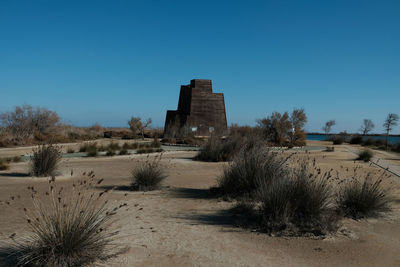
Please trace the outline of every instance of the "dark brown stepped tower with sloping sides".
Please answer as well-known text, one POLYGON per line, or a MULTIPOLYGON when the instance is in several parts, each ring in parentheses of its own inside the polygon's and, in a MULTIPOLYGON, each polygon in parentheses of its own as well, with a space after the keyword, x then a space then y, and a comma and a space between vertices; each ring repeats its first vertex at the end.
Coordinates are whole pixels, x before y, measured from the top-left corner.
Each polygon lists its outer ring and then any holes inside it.
POLYGON ((167 110, 164 135, 224 135, 227 128, 224 94, 212 92, 211 80, 195 79, 181 86, 178 109, 167 110))

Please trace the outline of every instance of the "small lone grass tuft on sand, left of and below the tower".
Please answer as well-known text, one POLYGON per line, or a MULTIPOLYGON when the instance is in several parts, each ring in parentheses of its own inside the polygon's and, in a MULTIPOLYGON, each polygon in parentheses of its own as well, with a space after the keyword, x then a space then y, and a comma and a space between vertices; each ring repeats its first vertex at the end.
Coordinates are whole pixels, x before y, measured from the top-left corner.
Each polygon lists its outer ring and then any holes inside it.
POLYGON ((134 190, 148 191, 160 187, 161 182, 167 177, 160 164, 161 158, 162 155, 147 157, 133 170, 131 186, 134 190))

